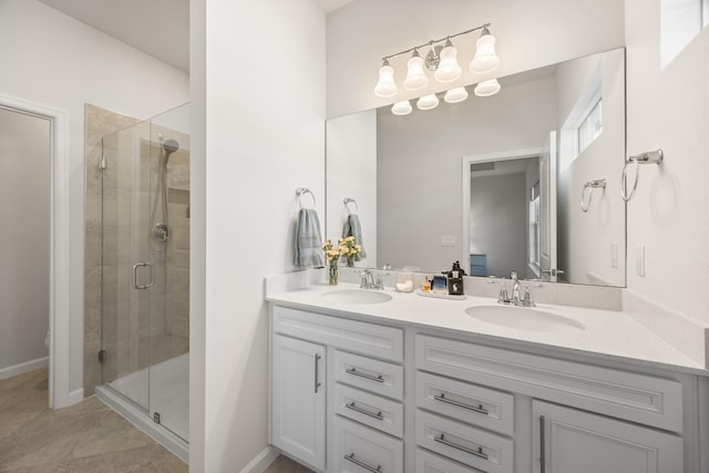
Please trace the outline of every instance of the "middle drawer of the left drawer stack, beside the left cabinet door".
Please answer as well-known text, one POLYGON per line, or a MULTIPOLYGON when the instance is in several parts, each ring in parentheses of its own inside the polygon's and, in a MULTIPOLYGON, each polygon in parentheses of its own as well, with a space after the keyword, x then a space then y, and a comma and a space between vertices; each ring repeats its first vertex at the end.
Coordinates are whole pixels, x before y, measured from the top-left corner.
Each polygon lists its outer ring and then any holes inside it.
POLYGON ((401 402, 337 383, 335 412, 388 434, 399 438, 403 435, 401 402))

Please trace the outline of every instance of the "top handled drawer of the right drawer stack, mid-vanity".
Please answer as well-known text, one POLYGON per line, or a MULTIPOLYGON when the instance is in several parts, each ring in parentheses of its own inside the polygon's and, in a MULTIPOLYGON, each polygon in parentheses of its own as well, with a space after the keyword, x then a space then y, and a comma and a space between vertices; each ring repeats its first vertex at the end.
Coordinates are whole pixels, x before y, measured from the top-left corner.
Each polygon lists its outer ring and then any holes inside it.
POLYGON ((512 436, 514 397, 417 371, 417 405, 512 436))

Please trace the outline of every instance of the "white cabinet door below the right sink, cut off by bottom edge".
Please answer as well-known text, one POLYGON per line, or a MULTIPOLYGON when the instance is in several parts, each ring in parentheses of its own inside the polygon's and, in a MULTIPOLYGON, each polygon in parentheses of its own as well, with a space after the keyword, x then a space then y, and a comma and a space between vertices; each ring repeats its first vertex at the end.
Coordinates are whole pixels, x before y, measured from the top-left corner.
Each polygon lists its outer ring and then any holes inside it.
POLYGON ((534 473, 681 473, 681 438, 533 402, 534 473))

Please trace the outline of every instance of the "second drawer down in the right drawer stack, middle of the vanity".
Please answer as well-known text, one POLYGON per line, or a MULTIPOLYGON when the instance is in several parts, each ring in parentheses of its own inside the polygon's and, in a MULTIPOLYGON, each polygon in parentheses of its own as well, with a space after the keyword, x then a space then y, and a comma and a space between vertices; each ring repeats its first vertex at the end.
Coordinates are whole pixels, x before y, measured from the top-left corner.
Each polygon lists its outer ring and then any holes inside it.
POLYGON ((470 425, 417 411, 417 444, 487 473, 513 472, 513 442, 470 425))

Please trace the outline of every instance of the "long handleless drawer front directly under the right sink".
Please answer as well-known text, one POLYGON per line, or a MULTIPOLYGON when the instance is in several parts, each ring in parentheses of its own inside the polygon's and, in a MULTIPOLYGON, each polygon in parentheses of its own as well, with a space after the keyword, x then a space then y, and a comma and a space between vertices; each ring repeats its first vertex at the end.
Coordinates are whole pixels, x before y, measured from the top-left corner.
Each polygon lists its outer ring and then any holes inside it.
POLYGON ((424 335, 415 336, 415 357, 421 370, 682 431, 682 385, 671 379, 424 335))

